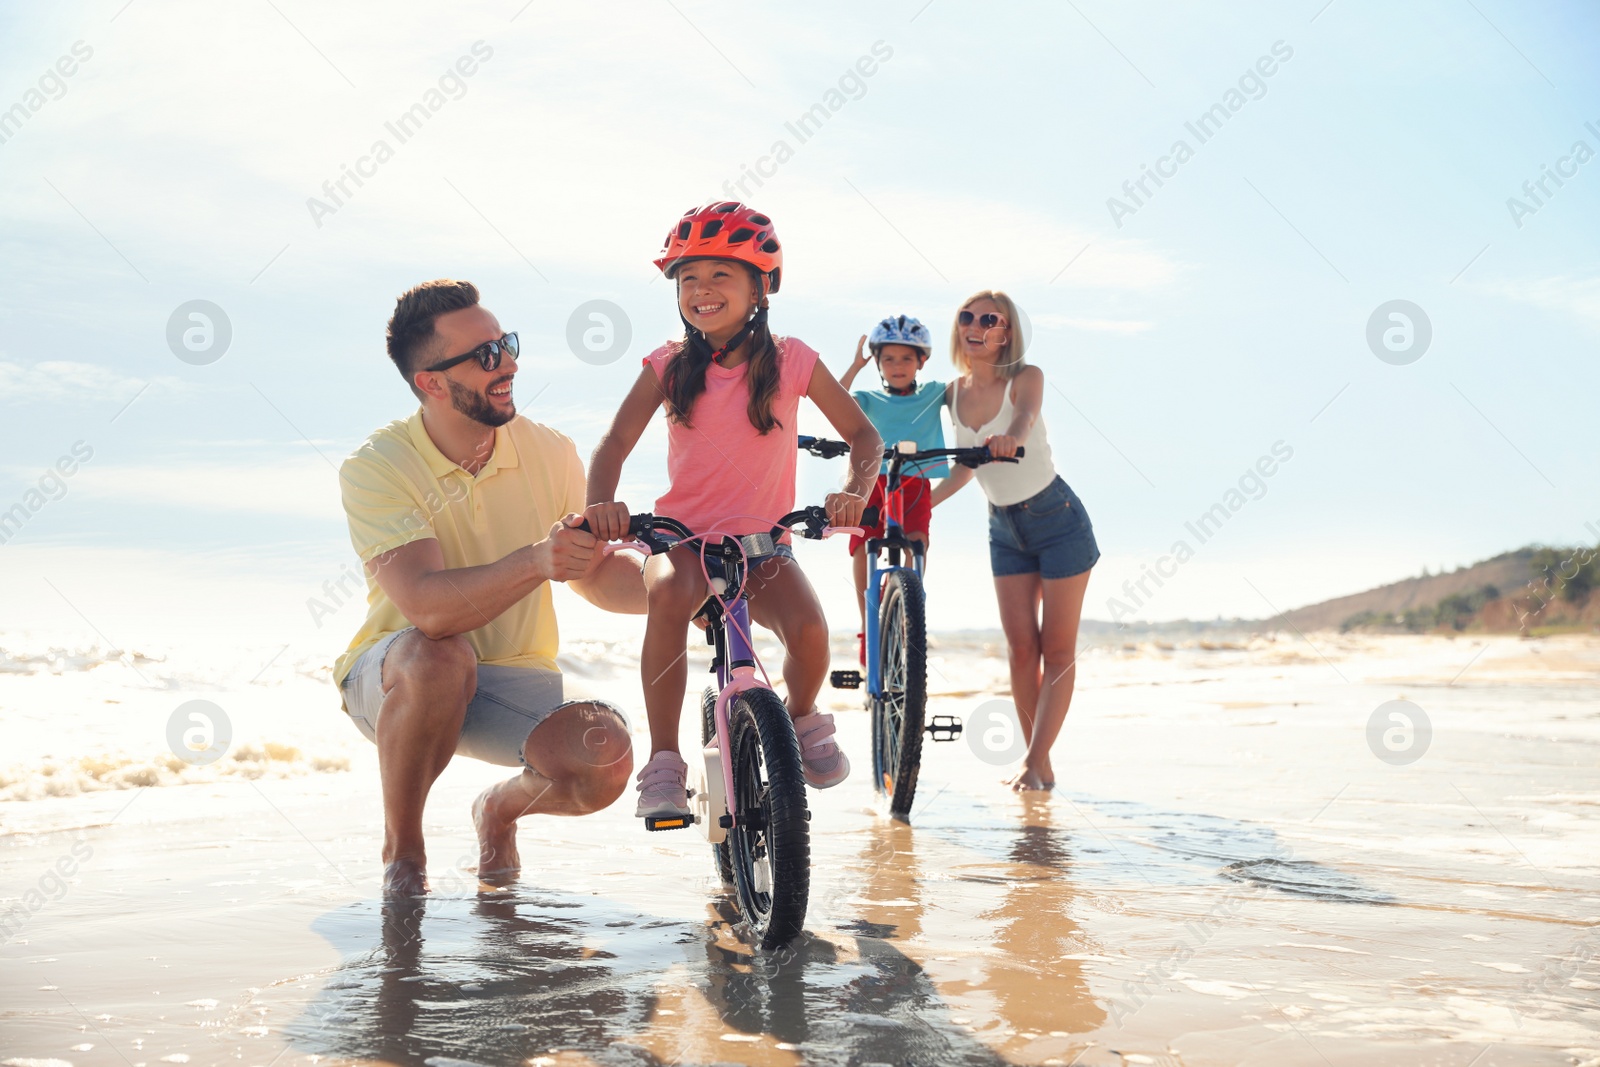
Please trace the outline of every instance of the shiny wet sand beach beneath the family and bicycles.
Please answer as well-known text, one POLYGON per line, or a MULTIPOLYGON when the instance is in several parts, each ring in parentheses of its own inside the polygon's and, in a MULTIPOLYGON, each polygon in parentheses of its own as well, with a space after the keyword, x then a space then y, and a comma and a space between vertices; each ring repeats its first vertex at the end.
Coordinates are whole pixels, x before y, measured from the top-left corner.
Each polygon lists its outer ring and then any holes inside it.
MULTIPOLYGON (((979 654, 946 648, 931 688, 960 696, 931 710, 1003 689, 979 654)), ((630 800, 525 824, 522 881, 480 886, 467 803, 499 771, 464 760, 421 907, 378 897, 370 752, 0 805, 3 893, 42 901, 0 949, 0 1061, 1600 1064, 1600 640, 1080 672, 1054 795, 930 744, 910 827, 842 713, 858 773, 813 793, 808 933, 778 953, 739 939, 702 840, 630 800), (1432 721, 1410 765, 1368 745, 1400 697, 1432 721)))

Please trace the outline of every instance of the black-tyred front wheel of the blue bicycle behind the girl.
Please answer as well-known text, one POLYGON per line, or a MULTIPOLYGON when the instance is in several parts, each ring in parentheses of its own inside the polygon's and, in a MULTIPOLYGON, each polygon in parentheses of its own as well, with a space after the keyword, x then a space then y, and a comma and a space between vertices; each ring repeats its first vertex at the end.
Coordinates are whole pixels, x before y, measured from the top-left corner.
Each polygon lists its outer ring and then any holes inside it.
POLYGON ((883 694, 872 697, 872 781, 890 798, 890 816, 909 822, 928 704, 928 640, 915 571, 883 576, 877 656, 883 694))

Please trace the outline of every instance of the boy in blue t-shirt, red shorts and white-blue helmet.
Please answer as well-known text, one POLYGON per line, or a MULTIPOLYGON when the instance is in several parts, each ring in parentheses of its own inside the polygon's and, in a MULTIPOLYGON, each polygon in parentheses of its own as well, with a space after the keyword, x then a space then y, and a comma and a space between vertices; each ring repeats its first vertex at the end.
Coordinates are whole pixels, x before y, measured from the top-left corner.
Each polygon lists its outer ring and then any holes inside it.
MULTIPOLYGON (((864 349, 870 349, 872 360, 878 365, 878 376, 883 389, 858 389, 851 394, 867 419, 878 430, 885 448, 894 448, 899 442, 917 442, 917 450, 944 448, 944 424, 939 421, 939 410, 946 403, 944 382, 917 381, 917 371, 933 354, 933 336, 928 328, 910 315, 894 315, 885 318, 872 328, 872 334, 862 336, 856 342, 856 358, 850 370, 838 379, 838 384, 850 389, 856 374, 867 365, 864 349)), ((942 459, 923 461, 920 469, 907 467, 901 475, 901 499, 904 501, 902 528, 906 536, 920 542, 922 550, 928 547, 928 525, 933 515, 933 486, 930 478, 944 478, 950 474, 949 464, 942 459)), ((882 509, 883 491, 888 474, 888 461, 878 469, 878 482, 867 499, 867 507, 882 509)), ((861 645, 861 665, 867 665, 867 553, 864 550, 869 537, 883 536, 883 517, 880 514, 875 526, 866 526, 862 537, 850 539, 850 555, 854 560, 856 573, 856 606, 861 611, 861 633, 856 638, 861 645)))

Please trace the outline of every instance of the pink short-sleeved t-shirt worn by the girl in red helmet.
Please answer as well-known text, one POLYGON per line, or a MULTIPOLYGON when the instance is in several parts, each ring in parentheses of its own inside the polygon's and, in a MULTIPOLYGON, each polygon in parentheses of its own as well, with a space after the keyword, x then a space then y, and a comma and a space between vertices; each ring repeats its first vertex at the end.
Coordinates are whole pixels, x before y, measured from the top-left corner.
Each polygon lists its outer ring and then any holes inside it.
MULTIPOLYGON (((690 411, 691 426, 667 419, 667 478, 656 514, 677 518, 694 533, 766 533, 795 504, 795 419, 806 395, 816 350, 795 338, 778 344, 778 394, 766 434, 750 426, 749 360, 734 368, 706 368, 706 392, 690 411), (744 518, 755 515, 757 518, 744 518)), ((656 379, 667 373, 677 344, 664 344, 645 363, 656 379)))

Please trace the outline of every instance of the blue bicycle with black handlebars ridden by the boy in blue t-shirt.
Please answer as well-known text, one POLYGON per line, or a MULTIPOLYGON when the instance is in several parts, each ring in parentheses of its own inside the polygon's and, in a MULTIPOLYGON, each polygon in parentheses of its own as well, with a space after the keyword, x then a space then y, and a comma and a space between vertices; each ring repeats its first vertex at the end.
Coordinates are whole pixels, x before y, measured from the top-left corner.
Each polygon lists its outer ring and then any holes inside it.
MULTIPOLYGON (((834 459, 850 451, 845 442, 822 437, 798 440, 800 450, 834 459)), ((1016 450, 1018 456, 1022 450, 1016 450)), ((866 653, 867 677, 859 670, 835 670, 835 689, 859 689, 866 681, 866 705, 872 715, 872 784, 888 797, 890 816, 910 821, 910 805, 917 793, 917 773, 922 768, 922 736, 934 741, 955 741, 962 736, 962 721, 955 715, 934 715, 923 725, 928 707, 928 633, 922 587, 923 545, 909 537, 902 528, 904 490, 901 480, 906 469, 918 464, 950 459, 963 467, 981 467, 986 462, 1016 462, 1016 459, 990 456, 978 448, 917 450, 915 442, 899 442, 883 450, 890 469, 885 475, 882 509, 867 509, 862 523, 875 526, 878 510, 883 517, 883 536, 869 537, 867 550, 867 603, 866 603, 866 653), (906 563, 901 563, 901 560, 906 563)))

